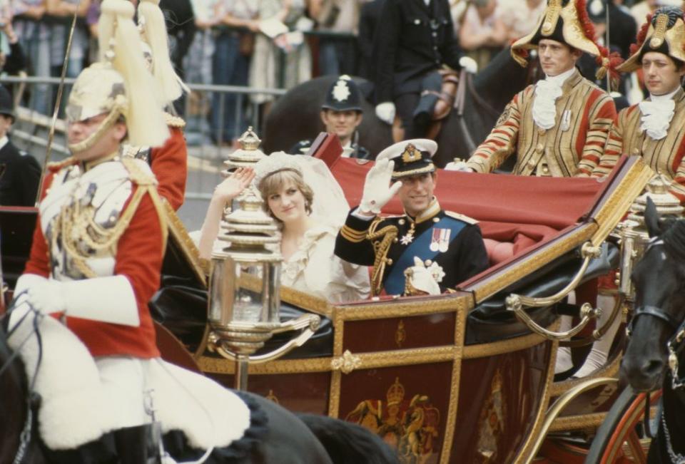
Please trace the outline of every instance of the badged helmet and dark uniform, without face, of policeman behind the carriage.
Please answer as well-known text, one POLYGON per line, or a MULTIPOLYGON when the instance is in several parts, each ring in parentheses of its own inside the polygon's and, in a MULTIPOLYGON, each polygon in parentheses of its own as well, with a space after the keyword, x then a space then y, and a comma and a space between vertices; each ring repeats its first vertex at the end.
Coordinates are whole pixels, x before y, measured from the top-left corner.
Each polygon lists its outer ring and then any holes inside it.
MULTIPOLYGON (((350 76, 343 74, 338 77, 328 88, 326 92, 326 99, 321 105, 321 110, 334 111, 357 111, 363 113, 362 109, 362 93, 357 87, 355 81, 352 81, 350 76)), ((345 158, 360 158, 362 160, 369 160, 371 155, 369 150, 361 147, 356 139, 359 138, 359 133, 355 130, 352 134, 352 143, 349 146, 343 147, 343 153, 347 152, 345 158)), ((298 143, 290 148, 292 155, 305 155, 312 147, 313 140, 300 140, 298 143)))

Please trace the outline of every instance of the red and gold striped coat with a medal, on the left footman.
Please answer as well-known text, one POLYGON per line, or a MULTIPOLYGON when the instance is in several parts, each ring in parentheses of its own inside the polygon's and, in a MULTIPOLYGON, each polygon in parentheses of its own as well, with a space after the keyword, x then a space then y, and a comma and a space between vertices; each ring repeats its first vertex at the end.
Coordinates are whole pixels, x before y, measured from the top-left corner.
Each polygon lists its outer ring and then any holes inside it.
POLYGON ((612 98, 576 70, 556 101, 556 125, 544 130, 533 121, 534 91, 532 85, 514 96, 468 167, 492 172, 516 152, 516 175, 591 175, 616 117, 612 98))

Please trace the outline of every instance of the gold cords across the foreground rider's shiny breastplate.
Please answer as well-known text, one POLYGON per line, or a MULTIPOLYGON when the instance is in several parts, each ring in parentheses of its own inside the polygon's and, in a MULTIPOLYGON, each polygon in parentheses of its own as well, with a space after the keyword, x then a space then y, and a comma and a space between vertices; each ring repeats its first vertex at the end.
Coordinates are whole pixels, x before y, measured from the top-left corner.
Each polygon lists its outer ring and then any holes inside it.
POLYGON ((62 237, 62 244, 64 245, 67 257, 71 259, 76 269, 87 278, 97 277, 97 274, 88 266, 86 259, 106 249, 110 249, 112 254, 116 254, 116 244, 131 223, 133 213, 138 209, 138 205, 140 205, 146 193, 150 195, 157 210, 162 230, 163 249, 166 249, 166 239, 168 236, 166 215, 163 213, 163 207, 155 188, 154 180, 141 172, 133 160, 122 160, 122 163, 128 172, 131 173, 131 181, 138 185, 138 189, 136 189, 131 202, 128 203, 126 210, 121 213, 121 217, 119 217, 114 227, 105 228, 97 224, 93 220, 95 208, 92 205, 81 205, 81 201, 76 198, 72 198, 71 203, 60 210, 54 222, 54 232, 51 235, 51 249, 59 249, 56 242, 59 237, 62 237), (80 250, 78 249, 78 244, 85 246, 80 250))

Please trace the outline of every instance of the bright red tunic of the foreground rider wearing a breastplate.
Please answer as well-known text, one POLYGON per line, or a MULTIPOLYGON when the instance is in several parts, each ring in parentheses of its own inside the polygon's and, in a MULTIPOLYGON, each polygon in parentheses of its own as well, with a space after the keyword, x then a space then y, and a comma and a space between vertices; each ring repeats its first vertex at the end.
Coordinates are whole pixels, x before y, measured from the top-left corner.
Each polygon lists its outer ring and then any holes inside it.
MULTIPOLYGON (((46 196, 54 176, 55 173, 51 172, 46 177, 41 199, 46 196)), ((131 197, 137 188, 139 187, 134 185, 131 197)), ((127 200, 124 210, 131 197, 127 200)), ((83 341, 93 356, 129 355, 138 358, 160 356, 148 301, 160 284, 162 242, 162 230, 156 208, 150 195, 145 195, 133 214, 131 223, 118 240, 113 272, 113 275, 123 275, 131 282, 133 294, 136 295, 141 324, 138 327, 132 327, 76 317, 66 318, 68 328, 83 341)), ((51 268, 48 249, 39 217, 34 231, 29 262, 24 272, 49 277, 51 268)), ((97 301, 93 300, 93 304, 97 304, 97 301)))

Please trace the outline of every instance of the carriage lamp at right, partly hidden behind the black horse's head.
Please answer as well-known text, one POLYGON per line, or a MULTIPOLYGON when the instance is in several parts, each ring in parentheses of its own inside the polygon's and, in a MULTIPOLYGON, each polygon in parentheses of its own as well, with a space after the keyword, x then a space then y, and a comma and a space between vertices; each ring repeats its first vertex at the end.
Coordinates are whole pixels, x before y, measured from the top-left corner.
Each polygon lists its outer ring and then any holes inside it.
POLYGON ((646 185, 644 194, 637 197, 631 205, 627 219, 617 226, 616 233, 621 239, 621 264, 617 284, 619 293, 628 302, 633 302, 635 297, 630 274, 634 264, 639 261, 649 244, 649 233, 644 223, 647 199, 651 198, 661 217, 682 217, 683 215, 684 208, 680 205, 680 200, 669 192, 670 185, 671 181, 662 174, 652 177, 646 185))

